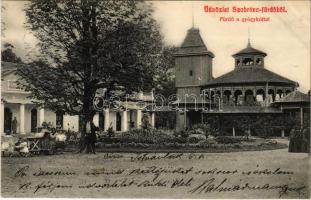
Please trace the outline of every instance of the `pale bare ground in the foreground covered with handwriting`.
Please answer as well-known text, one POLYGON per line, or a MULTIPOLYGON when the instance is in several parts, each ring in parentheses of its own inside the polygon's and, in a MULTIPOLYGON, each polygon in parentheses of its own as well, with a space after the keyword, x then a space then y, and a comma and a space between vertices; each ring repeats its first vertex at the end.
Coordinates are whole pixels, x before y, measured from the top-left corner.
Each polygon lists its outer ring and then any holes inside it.
POLYGON ((4 197, 308 198, 309 157, 232 153, 64 153, 2 158, 4 197))

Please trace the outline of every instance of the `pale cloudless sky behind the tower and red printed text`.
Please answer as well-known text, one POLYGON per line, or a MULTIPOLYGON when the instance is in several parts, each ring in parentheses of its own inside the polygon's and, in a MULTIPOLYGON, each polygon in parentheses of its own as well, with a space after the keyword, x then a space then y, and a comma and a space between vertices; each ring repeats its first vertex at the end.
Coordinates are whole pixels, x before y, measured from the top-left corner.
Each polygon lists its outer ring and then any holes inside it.
MULTIPOLYGON (((25 1, 4 1, 4 42, 12 43, 17 54, 27 59, 36 38, 25 29, 25 1)), ((247 45, 266 52, 265 67, 310 89, 310 1, 153 1, 154 17, 160 24, 164 43, 180 46, 192 26, 200 30, 209 51, 215 54, 213 76, 234 69, 232 54, 247 45), (287 13, 208 13, 210 7, 285 6, 287 13), (270 17, 269 22, 223 22, 220 17, 270 17)))

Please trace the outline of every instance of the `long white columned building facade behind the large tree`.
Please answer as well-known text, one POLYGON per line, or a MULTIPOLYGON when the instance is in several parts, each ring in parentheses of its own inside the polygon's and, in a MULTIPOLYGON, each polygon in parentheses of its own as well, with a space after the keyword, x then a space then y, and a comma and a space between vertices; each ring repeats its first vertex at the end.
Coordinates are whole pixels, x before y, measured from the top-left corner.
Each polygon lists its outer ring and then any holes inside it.
MULTIPOLYGON (((18 76, 15 74, 18 64, 1 63, 1 123, 0 133, 26 134, 36 132, 43 122, 63 130, 79 131, 79 116, 71 116, 62 112, 53 112, 38 107, 29 99, 29 92, 17 86, 18 76)), ((151 93, 139 93, 136 99, 127 102, 124 111, 104 110, 94 116, 93 122, 100 130, 107 130, 110 126, 115 131, 127 131, 129 128, 140 128, 144 108, 151 104, 151 93), (138 106, 137 102, 143 102, 138 106)), ((149 122, 154 126, 154 113, 146 112, 149 122)))

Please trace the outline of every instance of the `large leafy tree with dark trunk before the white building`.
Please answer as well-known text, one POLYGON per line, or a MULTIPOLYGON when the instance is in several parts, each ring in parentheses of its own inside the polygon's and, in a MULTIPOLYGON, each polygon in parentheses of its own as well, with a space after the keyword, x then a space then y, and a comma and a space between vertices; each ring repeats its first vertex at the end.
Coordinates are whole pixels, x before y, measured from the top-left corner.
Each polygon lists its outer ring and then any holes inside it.
POLYGON ((162 37, 150 3, 34 0, 25 10, 41 57, 19 69, 20 84, 36 103, 80 115, 82 141, 98 90, 122 99, 154 87, 162 37))

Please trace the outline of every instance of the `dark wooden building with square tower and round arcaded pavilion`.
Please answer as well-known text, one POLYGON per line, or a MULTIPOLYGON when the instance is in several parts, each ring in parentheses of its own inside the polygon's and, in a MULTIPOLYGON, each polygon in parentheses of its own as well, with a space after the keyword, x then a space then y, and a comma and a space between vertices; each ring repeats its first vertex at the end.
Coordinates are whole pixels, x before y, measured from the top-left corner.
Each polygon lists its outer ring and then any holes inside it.
POLYGON ((207 50, 199 30, 191 28, 175 54, 176 129, 189 128, 209 117, 220 124, 226 116, 283 115, 282 104, 274 102, 282 101, 299 85, 267 70, 266 56, 248 42, 245 49, 233 54, 234 70, 214 78, 214 54, 207 50))

